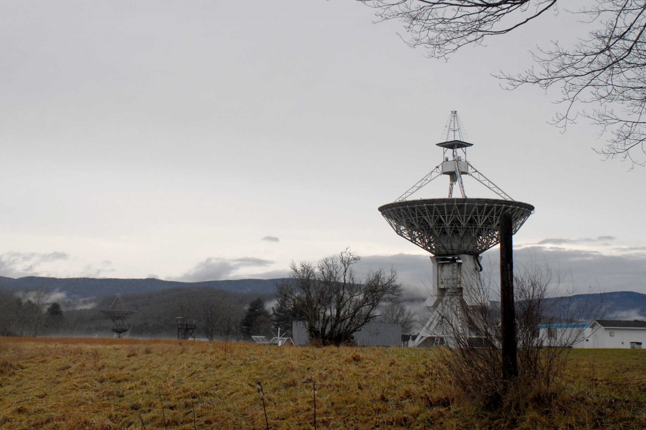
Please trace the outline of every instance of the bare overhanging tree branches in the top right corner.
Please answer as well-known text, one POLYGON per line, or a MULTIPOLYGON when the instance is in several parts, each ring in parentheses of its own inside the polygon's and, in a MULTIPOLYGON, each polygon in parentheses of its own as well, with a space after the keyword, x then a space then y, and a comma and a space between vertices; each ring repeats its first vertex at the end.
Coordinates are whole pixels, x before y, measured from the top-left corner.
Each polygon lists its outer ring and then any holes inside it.
MULTIPOLYGON (((380 19, 400 19, 411 46, 448 58, 466 45, 514 32, 557 0, 357 0, 377 8, 380 19)), ((598 152, 608 158, 646 163, 646 1, 592 0, 568 11, 581 16, 583 34, 574 46, 553 42, 533 53, 536 68, 502 74, 510 88, 523 84, 557 87, 564 105, 559 127, 581 115, 609 138, 598 152), (588 110, 581 105, 588 105, 588 110)))

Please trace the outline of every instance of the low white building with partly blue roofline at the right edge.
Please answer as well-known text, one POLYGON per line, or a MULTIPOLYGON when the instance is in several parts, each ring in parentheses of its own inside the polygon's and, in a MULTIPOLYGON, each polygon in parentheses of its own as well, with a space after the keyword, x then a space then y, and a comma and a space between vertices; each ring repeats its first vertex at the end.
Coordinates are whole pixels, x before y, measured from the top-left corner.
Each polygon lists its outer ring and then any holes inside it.
POLYGON ((539 339, 543 347, 646 349, 646 321, 543 324, 539 339))

